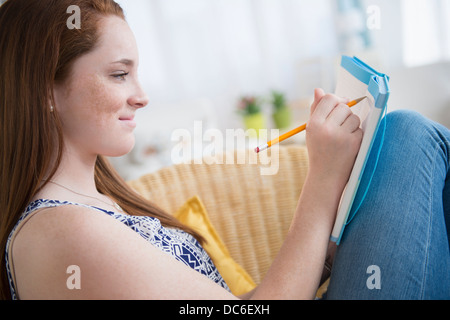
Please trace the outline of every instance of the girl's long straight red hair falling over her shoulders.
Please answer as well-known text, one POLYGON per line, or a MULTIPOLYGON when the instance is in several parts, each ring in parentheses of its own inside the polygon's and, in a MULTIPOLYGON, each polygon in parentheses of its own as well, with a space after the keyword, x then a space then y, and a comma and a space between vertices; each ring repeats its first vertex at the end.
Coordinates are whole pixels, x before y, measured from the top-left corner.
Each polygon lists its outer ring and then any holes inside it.
MULTIPOLYGON (((68 78, 74 61, 98 40, 98 22, 125 19, 112 0, 8 0, 0 7, 0 298, 10 299, 5 266, 8 236, 42 180, 57 170, 63 150, 61 122, 50 112, 52 88, 68 78), (77 5, 81 28, 69 29, 67 8, 77 5)), ((166 227, 197 236, 134 192, 98 156, 95 181, 133 215, 149 215, 166 227)))

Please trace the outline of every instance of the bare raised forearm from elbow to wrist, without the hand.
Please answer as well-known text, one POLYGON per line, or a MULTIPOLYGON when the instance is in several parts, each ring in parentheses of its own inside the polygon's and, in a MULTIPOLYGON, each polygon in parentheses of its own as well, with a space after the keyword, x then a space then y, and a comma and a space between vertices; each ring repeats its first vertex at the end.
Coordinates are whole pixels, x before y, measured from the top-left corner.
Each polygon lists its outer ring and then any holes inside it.
POLYGON ((254 299, 315 297, 339 198, 310 177, 304 190, 286 240, 254 299))

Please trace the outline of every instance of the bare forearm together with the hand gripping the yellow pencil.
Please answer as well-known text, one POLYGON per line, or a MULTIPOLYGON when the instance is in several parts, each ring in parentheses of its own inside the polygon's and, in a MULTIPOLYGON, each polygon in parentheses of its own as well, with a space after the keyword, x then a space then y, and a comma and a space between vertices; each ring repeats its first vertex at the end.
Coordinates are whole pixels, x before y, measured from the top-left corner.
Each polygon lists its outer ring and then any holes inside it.
POLYGON ((362 139, 360 121, 345 102, 315 92, 307 126, 310 170, 286 240, 252 298, 315 297, 339 200, 362 139))

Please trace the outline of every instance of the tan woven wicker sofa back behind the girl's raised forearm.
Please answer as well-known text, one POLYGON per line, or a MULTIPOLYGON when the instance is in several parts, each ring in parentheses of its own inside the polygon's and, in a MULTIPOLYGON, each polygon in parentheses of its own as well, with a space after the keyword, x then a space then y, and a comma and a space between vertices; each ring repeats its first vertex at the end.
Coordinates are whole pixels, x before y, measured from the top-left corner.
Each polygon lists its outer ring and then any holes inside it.
POLYGON ((308 170, 305 147, 279 146, 276 157, 274 152, 276 174, 262 174, 254 152, 245 163, 236 152, 232 164, 177 164, 129 184, 169 213, 198 196, 231 257, 258 284, 282 245, 308 170))

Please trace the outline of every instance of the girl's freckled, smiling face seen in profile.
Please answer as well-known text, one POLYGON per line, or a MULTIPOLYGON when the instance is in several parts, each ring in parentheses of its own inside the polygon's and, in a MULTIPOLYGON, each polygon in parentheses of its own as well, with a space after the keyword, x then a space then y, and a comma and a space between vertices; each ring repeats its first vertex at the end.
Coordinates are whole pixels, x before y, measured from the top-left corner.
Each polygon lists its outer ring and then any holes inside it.
POLYGON ((55 108, 66 146, 114 157, 133 148, 135 112, 148 98, 138 81, 138 50, 128 24, 106 17, 99 31, 96 48, 76 60, 69 79, 55 86, 55 108))

